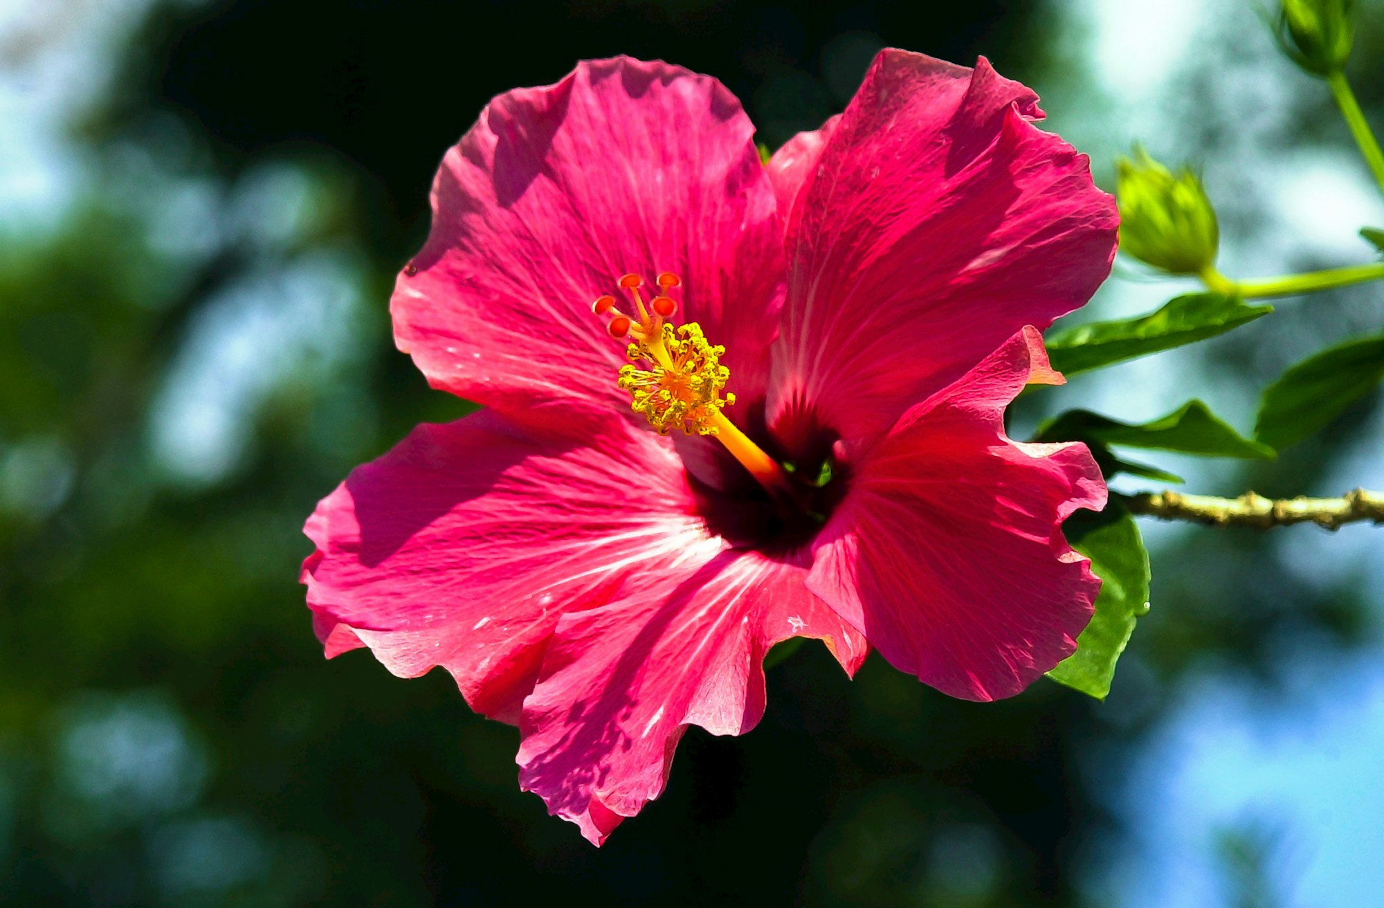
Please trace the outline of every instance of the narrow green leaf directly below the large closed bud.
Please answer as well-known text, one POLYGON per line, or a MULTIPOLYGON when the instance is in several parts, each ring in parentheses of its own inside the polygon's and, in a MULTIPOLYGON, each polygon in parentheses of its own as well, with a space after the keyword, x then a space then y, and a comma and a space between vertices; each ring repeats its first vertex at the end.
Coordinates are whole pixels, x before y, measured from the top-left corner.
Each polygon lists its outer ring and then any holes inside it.
POLYGON ((1053 331, 1045 343, 1052 367, 1074 375, 1205 340, 1271 311, 1272 306, 1247 306, 1239 296, 1189 293, 1138 318, 1096 321, 1053 331))

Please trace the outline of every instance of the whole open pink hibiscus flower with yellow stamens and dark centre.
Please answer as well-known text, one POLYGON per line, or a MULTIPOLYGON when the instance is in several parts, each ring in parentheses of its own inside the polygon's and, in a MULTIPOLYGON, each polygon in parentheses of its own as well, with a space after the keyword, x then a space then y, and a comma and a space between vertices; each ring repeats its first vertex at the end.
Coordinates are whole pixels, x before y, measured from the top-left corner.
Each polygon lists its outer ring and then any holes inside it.
POLYGON ((1060 523, 1104 483, 1002 417, 1062 381, 1038 332, 1117 220, 1041 116, 984 60, 897 50, 768 166, 724 86, 663 62, 491 101, 392 300, 399 347, 484 410, 309 519, 327 655, 447 669, 597 844, 688 725, 754 727, 786 638, 976 700, 1057 664, 1099 588, 1060 523))

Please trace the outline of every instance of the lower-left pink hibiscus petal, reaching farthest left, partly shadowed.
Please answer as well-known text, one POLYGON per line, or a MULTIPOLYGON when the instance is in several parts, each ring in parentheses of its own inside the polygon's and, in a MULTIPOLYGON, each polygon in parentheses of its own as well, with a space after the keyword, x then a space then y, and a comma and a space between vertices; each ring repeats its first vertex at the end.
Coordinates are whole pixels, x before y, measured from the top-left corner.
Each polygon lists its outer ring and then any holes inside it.
POLYGON ((707 543, 667 439, 619 419, 573 439, 493 411, 418 426, 304 532, 328 656, 364 644, 403 677, 444 666, 476 711, 511 723, 565 610, 707 543))

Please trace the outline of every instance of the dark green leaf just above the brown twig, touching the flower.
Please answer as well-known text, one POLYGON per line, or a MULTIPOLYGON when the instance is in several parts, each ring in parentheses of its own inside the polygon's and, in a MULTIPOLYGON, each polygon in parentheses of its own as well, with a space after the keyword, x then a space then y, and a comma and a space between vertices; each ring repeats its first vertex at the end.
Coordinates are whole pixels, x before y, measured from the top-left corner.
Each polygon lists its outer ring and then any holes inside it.
POLYGON ((1272 447, 1241 437, 1200 400, 1189 400, 1168 415, 1142 425, 1120 422, 1089 410, 1068 410, 1039 426, 1038 440, 1099 442, 1201 457, 1244 457, 1251 460, 1273 460, 1276 457, 1272 447))

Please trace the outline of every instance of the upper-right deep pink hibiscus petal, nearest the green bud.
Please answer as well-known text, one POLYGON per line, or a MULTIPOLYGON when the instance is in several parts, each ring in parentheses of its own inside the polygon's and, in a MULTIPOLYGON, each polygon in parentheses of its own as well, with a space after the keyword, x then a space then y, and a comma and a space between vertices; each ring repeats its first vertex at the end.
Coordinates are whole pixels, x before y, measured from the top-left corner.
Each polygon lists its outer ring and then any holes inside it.
POLYGON ((1041 115, 984 58, 876 58, 786 226, 771 426, 810 411, 858 453, 1020 327, 1089 299, 1114 199, 1041 115))

